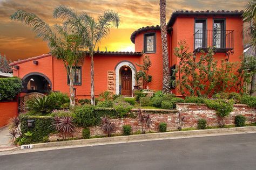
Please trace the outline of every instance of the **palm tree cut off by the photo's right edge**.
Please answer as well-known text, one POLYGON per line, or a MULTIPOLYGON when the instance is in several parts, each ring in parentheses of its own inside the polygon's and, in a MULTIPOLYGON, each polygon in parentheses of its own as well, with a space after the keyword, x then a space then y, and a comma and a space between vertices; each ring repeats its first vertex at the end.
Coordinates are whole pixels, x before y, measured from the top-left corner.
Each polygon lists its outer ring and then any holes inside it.
MULTIPOLYGON (((256 58, 256 0, 250 1, 245 6, 245 12, 243 13, 242 17, 244 17, 244 22, 249 22, 250 26, 247 29, 247 33, 251 37, 251 43, 255 48, 254 57, 256 58)), ((252 76, 251 81, 251 91, 250 95, 254 94, 256 89, 256 73, 252 76)))

